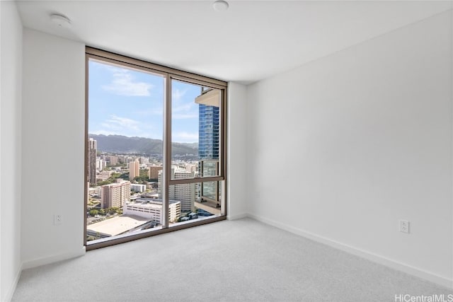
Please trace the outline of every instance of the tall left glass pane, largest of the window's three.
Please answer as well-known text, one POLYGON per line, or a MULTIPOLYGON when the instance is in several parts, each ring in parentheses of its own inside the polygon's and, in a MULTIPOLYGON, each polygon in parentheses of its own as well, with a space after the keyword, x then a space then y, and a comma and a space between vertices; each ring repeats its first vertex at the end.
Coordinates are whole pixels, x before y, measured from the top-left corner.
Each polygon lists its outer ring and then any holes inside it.
POLYGON ((163 76, 89 60, 88 241, 159 228, 164 95, 163 76))

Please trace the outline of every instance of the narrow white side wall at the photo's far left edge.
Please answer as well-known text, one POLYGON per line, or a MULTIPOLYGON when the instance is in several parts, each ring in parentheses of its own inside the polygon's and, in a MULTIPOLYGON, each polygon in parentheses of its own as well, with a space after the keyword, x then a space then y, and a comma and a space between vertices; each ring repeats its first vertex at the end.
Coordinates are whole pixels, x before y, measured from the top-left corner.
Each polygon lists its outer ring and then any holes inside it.
POLYGON ((0 300, 21 273, 22 23, 13 1, 0 1, 0 300))

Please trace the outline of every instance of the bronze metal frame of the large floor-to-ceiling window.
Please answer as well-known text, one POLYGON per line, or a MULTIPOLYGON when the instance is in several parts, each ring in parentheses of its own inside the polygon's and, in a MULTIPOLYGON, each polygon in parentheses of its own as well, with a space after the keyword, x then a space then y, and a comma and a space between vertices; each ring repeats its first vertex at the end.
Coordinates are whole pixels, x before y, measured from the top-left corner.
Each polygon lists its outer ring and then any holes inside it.
POLYGON ((227 88, 228 83, 226 81, 221 81, 218 79, 212 79, 207 76, 201 76, 199 74, 193 74, 188 71, 182 71, 179 69, 173 69, 168 66, 163 66, 159 64, 154 64, 151 62, 146 62, 141 59, 134 59, 132 57, 126 57, 121 54, 115 54, 113 52, 107 52, 105 50, 99 50, 94 47, 86 46, 85 49, 85 166, 84 166, 84 245, 86 250, 95 250, 97 248, 103 248, 109 245, 115 245, 120 243, 125 243, 132 240, 137 240, 139 238, 146 238, 150 236, 159 235, 161 233, 168 233, 171 231, 178 231, 184 228, 190 228, 193 226, 199 226, 206 223, 212 223, 215 221, 222 221, 226 219, 226 100, 227 100, 227 88), (90 59, 95 59, 99 62, 106 62, 111 64, 116 64, 119 66, 124 66, 126 68, 138 69, 152 74, 159 74, 164 77, 164 134, 163 134, 163 151, 162 151, 162 164, 164 165, 163 177, 162 177, 162 212, 163 212, 163 221, 162 226, 156 230, 144 230, 139 231, 134 235, 119 235, 115 238, 104 238, 96 240, 96 242, 87 242, 86 241, 86 211, 87 211, 87 201, 88 201, 88 62, 90 59), (171 179, 171 101, 172 101, 172 90, 171 82, 173 80, 182 81, 185 83, 191 83, 195 85, 200 85, 208 88, 219 89, 221 100, 219 106, 219 175, 217 176, 207 176, 199 178, 185 178, 185 179, 171 179), (221 199, 221 214, 210 219, 203 219, 201 221, 194 221, 193 223, 182 223, 176 226, 169 226, 168 221, 168 189, 171 185, 179 184, 188 184, 195 182, 213 182, 221 181, 222 183, 222 199, 221 199))

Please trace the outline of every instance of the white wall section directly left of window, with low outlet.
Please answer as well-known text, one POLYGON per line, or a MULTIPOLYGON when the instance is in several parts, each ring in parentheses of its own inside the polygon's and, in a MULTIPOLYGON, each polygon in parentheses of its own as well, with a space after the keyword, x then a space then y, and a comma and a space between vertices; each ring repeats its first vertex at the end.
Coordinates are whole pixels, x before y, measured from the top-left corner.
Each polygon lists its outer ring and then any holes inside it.
POLYGON ((84 91, 84 45, 25 29, 24 268, 84 253, 84 91))

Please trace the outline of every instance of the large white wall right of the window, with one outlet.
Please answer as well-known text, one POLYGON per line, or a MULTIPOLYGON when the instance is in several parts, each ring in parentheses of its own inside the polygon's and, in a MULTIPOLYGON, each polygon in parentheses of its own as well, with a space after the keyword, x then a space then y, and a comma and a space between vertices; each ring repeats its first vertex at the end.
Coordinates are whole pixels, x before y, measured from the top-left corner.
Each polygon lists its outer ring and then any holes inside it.
POLYGON ((449 12, 249 86, 248 213, 452 286, 451 89, 449 12))

